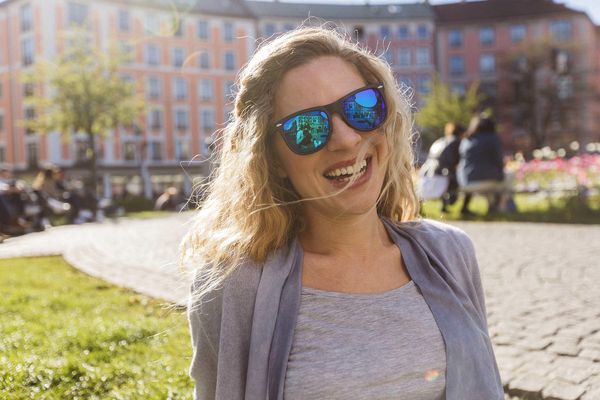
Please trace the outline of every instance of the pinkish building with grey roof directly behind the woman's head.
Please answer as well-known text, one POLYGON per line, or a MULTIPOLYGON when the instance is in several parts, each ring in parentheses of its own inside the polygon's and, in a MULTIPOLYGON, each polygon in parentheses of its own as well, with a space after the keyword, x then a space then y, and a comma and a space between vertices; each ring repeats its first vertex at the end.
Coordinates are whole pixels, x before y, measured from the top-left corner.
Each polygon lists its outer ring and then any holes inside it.
POLYGON ((247 1, 263 38, 332 21, 384 58, 398 81, 419 95, 429 92, 435 70, 435 22, 427 2, 412 4, 298 4, 247 1))

